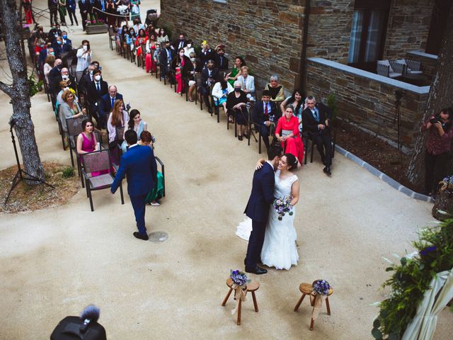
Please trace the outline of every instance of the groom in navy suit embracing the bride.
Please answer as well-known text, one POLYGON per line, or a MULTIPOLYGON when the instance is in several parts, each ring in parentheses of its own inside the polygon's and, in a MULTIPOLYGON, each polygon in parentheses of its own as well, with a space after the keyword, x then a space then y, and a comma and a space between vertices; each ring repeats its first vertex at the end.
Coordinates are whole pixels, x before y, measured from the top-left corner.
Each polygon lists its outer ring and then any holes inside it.
POLYGON ((256 265, 260 261, 261 249, 263 248, 264 233, 269 217, 269 207, 274 201, 274 171, 278 166, 282 149, 273 146, 268 149, 268 161, 263 167, 253 174, 253 186, 250 198, 244 213, 252 220, 252 232, 248 239, 246 255, 246 272, 265 274, 266 271, 256 265))

